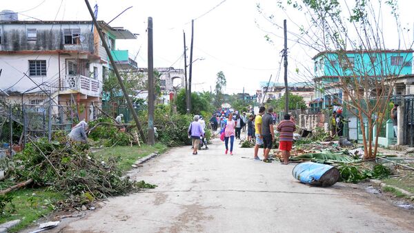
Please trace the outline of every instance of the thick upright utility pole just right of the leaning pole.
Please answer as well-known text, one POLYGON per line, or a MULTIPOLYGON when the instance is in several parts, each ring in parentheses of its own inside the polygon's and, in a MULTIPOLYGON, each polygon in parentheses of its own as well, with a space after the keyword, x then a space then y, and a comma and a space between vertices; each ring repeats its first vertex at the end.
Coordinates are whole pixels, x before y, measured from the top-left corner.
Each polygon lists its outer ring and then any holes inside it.
POLYGON ((152 17, 148 17, 148 145, 154 145, 154 50, 152 48, 152 17))

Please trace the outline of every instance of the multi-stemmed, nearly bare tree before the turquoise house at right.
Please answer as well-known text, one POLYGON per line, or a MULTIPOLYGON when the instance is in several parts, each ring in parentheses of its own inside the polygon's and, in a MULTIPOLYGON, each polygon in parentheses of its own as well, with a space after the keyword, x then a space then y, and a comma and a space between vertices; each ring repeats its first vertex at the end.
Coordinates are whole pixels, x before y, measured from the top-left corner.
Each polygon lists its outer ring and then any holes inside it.
MULTIPOLYGON (((401 52, 411 50, 413 43, 406 43, 404 39, 406 35, 403 32, 408 32, 408 29, 401 27, 397 1, 302 0, 278 3, 279 9, 298 10, 306 17, 307 26, 293 22, 298 33, 289 31, 290 40, 317 54, 313 58, 315 71, 328 67, 333 75, 317 75, 308 65, 303 65, 304 70, 315 81, 315 89, 322 94, 335 94, 335 89, 342 91, 342 97, 337 99, 361 123, 364 159, 375 158, 381 127, 376 128, 375 134, 373 130, 388 117, 383 113, 393 94, 395 81, 404 63, 412 62, 412 57, 401 52), (381 22, 390 19, 395 20, 395 27, 384 30, 381 22), (397 59, 393 60, 384 51, 387 50, 386 39, 394 35, 398 48, 395 51, 397 59)), ((257 5, 257 8, 271 26, 282 28, 274 21, 275 14, 267 17, 261 6, 257 5)))

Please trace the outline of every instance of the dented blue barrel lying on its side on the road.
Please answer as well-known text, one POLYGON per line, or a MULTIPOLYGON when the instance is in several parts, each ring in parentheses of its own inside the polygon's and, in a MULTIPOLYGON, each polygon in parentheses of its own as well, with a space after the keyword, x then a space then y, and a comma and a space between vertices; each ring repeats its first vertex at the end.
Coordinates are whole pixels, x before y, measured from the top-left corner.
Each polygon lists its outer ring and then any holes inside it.
POLYGON ((299 163, 293 168, 292 174, 302 183, 322 187, 337 183, 340 175, 339 170, 331 165, 313 162, 299 163))

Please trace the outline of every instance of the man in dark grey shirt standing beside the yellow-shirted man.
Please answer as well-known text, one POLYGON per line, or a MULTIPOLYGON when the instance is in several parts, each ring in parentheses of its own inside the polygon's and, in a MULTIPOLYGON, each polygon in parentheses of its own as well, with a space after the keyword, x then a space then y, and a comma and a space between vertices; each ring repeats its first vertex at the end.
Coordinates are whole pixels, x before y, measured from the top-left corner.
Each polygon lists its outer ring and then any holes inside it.
POLYGON ((265 163, 270 163, 269 158, 270 149, 273 146, 273 140, 275 140, 275 130, 273 129, 273 108, 268 108, 268 112, 262 117, 262 137, 264 148, 265 163))

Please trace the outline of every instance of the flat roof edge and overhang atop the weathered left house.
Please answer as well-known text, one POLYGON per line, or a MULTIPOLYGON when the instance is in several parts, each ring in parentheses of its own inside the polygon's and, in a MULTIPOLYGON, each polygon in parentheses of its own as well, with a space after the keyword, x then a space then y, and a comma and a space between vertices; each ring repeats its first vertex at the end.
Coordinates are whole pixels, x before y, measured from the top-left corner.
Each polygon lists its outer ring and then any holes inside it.
MULTIPOLYGON (((98 21, 99 26, 102 27, 103 30, 106 32, 110 32, 113 36, 115 36, 117 39, 137 39, 135 34, 130 32, 129 30, 126 30, 122 27, 112 27, 109 26, 108 23, 105 21, 98 21)), ((92 25, 92 21, 0 21, 0 24, 90 24, 92 25)))

